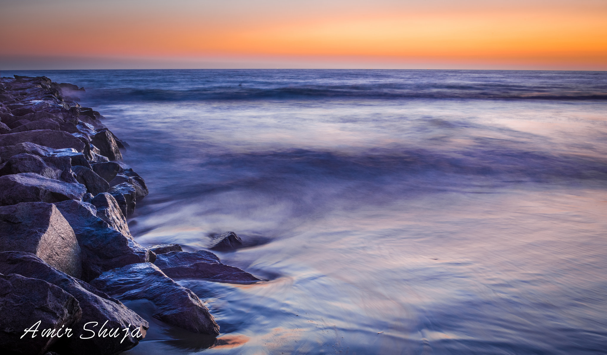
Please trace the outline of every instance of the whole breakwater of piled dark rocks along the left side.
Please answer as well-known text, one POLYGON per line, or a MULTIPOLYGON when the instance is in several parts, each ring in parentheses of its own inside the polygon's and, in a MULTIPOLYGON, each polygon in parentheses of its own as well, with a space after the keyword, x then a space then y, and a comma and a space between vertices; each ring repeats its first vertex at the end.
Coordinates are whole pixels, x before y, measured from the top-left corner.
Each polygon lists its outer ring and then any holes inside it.
MULTIPOLYGON (((127 144, 78 104, 84 92, 45 76, 0 78, 0 348, 5 354, 120 354, 158 320, 218 336, 194 292, 173 279, 253 283, 210 251, 144 247, 126 223, 148 194, 121 163, 127 144)), ((233 249, 233 232, 211 248, 233 249)))

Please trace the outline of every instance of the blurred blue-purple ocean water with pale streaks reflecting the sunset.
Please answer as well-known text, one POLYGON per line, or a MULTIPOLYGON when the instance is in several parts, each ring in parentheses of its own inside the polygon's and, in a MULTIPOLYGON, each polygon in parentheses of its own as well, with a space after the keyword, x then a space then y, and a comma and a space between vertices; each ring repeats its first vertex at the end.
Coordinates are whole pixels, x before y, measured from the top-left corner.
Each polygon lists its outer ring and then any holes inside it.
POLYGON ((604 354, 607 72, 15 70, 86 88, 150 194, 141 245, 266 282, 182 279, 218 339, 151 317, 129 355, 604 354))

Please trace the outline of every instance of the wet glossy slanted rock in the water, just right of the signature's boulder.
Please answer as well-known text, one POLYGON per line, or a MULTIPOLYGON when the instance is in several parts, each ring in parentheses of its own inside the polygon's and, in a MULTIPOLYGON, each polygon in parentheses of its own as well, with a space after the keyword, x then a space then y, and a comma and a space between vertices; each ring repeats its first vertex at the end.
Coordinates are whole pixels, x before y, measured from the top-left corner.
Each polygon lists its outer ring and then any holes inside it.
POLYGON ((219 335, 219 325, 198 296, 169 279, 151 263, 106 271, 92 285, 122 301, 148 299, 158 307, 154 317, 194 333, 219 335))

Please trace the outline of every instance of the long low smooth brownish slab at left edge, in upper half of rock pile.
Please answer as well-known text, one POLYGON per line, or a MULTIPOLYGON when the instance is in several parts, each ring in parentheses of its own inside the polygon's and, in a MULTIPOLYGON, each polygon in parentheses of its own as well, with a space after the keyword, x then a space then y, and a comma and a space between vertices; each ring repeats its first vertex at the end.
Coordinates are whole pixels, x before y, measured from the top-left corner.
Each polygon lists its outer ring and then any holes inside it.
POLYGON ((61 130, 26 130, 0 135, 0 146, 15 146, 17 143, 23 142, 32 142, 54 149, 74 148, 78 152, 82 152, 84 149, 84 143, 81 140, 61 130))

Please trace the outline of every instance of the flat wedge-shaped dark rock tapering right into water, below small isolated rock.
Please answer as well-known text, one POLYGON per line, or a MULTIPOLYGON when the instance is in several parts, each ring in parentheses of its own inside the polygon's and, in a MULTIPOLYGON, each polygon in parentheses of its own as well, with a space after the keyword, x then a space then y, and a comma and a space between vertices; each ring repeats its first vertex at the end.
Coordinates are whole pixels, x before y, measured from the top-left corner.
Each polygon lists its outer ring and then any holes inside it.
POLYGON ((172 251, 156 255, 154 265, 168 277, 189 277, 217 282, 253 283, 261 281, 235 266, 224 265, 212 252, 199 250, 192 252, 172 251))

